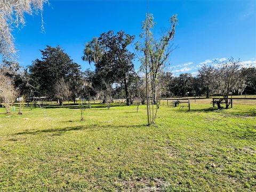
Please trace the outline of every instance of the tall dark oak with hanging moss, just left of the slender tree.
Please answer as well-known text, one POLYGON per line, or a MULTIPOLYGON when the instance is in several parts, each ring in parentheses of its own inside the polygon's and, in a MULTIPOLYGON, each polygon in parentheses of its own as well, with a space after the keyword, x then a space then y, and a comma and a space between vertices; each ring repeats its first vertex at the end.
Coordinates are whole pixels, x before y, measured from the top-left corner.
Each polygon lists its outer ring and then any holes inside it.
POLYGON ((129 101, 129 85, 136 76, 132 60, 134 53, 128 50, 134 36, 119 31, 103 33, 85 45, 83 60, 95 65, 95 73, 104 81, 124 86, 126 105, 129 101))

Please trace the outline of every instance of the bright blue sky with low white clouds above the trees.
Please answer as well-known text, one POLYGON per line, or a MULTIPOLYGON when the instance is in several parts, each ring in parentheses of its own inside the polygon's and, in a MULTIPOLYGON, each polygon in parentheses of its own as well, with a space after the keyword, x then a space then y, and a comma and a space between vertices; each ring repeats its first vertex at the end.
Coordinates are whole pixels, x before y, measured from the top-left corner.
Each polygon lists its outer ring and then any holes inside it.
MULTIPOLYGON (((177 49, 167 66, 174 75, 195 75, 203 63, 229 57, 256 66, 256 1, 149 1, 149 12, 156 36, 178 14, 177 49)), ((81 59, 85 42, 108 30, 124 30, 139 40, 145 14, 146 1, 50 1, 43 12, 45 34, 39 15, 26 15, 26 26, 13 31, 19 61, 31 65, 41 58, 39 49, 60 45, 82 69, 90 68, 81 59)), ((134 65, 139 68, 138 59, 134 65)))

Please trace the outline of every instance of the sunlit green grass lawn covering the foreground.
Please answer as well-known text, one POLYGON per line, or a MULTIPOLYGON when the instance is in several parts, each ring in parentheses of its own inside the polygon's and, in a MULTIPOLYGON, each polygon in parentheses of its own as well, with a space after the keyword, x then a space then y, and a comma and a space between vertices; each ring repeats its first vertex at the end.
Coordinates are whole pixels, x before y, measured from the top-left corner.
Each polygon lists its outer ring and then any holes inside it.
POLYGON ((256 107, 0 108, 0 191, 255 191, 256 107))

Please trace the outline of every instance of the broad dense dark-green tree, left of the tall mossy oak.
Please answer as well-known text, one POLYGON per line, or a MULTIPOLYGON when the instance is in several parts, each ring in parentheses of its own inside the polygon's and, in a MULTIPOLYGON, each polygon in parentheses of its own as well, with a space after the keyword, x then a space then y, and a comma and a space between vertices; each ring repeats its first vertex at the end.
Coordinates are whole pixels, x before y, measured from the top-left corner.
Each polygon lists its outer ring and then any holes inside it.
POLYGON ((73 62, 60 46, 47 45, 44 50, 41 50, 41 53, 42 59, 36 59, 29 67, 30 75, 34 79, 40 95, 59 99, 59 94, 53 90, 58 90, 56 89, 58 82, 65 81, 67 84, 70 82, 74 97, 76 97, 77 89, 74 86, 79 78, 80 66, 73 62))

